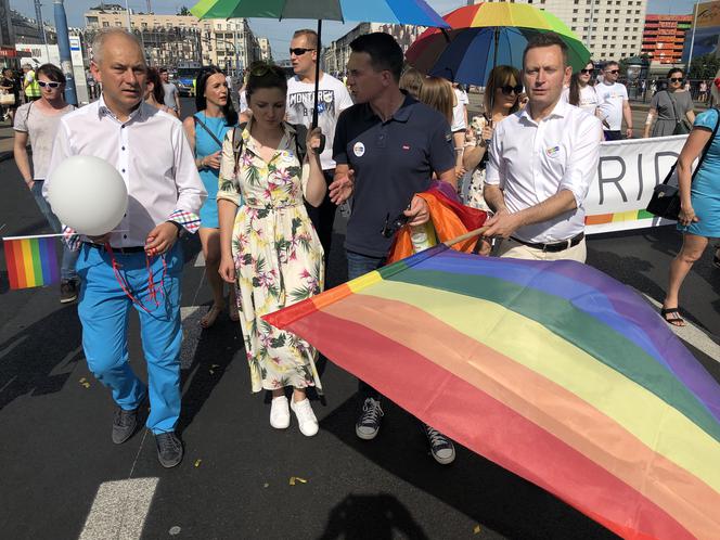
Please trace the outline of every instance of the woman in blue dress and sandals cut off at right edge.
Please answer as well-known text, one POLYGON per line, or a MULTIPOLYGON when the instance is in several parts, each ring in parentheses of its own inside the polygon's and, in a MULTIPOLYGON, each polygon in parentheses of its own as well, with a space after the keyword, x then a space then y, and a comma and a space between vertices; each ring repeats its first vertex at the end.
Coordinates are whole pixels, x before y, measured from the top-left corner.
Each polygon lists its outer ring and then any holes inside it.
MULTIPOLYGON (((720 103, 720 72, 711 83, 715 103, 720 103)), ((720 130, 712 131, 720 121, 720 110, 710 108, 697 115, 693 130, 678 158, 680 216, 678 229, 683 233, 682 248, 670 263, 670 283, 660 313, 676 326, 684 326, 678 309, 678 295, 693 263, 703 256, 709 239, 720 237, 720 130), (710 141, 712 138, 712 141, 710 141), (708 143, 707 154, 692 178, 693 162, 708 143)), ((717 258, 717 254, 716 254, 717 258)))

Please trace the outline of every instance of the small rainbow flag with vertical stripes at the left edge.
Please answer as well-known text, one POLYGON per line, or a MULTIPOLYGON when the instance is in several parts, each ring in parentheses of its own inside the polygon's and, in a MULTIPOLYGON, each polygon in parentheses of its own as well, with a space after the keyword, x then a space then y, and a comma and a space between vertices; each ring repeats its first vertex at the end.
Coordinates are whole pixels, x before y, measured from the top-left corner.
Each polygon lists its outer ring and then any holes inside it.
POLYGON ((56 234, 2 239, 10 288, 29 288, 60 281, 56 234))

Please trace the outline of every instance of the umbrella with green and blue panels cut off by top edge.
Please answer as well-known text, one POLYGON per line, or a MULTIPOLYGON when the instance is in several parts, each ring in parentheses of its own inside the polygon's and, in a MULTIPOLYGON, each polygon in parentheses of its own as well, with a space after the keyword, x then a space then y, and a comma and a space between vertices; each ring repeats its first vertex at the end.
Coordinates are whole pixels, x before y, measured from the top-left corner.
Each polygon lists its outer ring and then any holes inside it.
MULTIPOLYGON (((425 0, 201 0, 190 12, 197 18, 316 18, 318 48, 322 21, 373 21, 375 23, 447 27, 448 24, 425 0)), ((319 52, 319 51, 318 51, 319 52)), ((316 70, 312 126, 318 125, 318 86, 320 62, 316 70)))

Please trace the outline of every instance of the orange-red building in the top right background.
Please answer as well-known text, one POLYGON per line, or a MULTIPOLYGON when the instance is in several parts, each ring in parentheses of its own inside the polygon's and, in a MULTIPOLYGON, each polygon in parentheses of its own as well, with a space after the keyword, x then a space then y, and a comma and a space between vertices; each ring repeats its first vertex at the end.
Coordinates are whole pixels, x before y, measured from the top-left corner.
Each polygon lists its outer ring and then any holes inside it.
POLYGON ((652 64, 679 63, 692 24, 692 15, 647 15, 641 52, 652 64))

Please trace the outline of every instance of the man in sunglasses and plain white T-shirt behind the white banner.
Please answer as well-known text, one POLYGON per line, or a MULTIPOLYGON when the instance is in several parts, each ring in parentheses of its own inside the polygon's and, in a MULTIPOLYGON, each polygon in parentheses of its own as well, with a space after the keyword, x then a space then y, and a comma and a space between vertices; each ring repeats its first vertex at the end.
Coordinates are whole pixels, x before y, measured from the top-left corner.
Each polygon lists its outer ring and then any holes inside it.
POLYGON ((610 61, 603 67, 603 81, 595 87, 597 92, 597 114, 603 120, 606 141, 622 139, 622 119, 625 119, 625 136, 632 138, 632 110, 628 100, 628 89, 617 79, 620 76, 620 66, 610 61))

